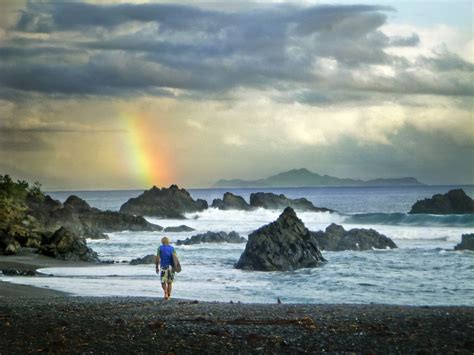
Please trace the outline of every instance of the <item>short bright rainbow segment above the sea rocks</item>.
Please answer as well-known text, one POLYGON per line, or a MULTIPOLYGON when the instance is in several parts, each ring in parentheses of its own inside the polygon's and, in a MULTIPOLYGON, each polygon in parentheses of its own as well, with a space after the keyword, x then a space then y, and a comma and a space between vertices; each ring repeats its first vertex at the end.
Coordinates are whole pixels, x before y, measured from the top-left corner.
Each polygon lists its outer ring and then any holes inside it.
POLYGON ((144 185, 142 187, 165 186, 172 178, 170 164, 162 151, 164 142, 155 127, 156 120, 145 113, 124 114, 122 118, 127 135, 127 168, 140 185, 144 185))

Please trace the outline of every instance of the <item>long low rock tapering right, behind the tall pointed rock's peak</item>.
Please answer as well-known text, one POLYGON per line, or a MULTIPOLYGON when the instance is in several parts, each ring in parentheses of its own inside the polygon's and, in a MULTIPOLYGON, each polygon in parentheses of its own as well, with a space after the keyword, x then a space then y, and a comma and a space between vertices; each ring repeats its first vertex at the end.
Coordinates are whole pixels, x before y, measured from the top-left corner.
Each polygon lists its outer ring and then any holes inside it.
POLYGON ((250 194, 250 206, 254 208, 263 207, 266 209, 280 210, 291 207, 298 211, 312 212, 334 212, 328 208, 315 207, 305 198, 290 199, 283 194, 276 195, 271 192, 256 192, 250 194))

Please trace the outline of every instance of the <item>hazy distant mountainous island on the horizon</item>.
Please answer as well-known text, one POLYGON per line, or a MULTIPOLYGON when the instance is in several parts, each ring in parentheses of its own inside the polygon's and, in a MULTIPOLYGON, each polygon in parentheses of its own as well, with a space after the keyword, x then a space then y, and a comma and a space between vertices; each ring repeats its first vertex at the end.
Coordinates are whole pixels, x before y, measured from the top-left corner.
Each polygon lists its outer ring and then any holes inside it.
POLYGON ((214 187, 316 187, 316 186, 419 186, 423 185, 413 177, 396 179, 340 179, 319 175, 308 169, 293 169, 259 180, 219 180, 214 187))

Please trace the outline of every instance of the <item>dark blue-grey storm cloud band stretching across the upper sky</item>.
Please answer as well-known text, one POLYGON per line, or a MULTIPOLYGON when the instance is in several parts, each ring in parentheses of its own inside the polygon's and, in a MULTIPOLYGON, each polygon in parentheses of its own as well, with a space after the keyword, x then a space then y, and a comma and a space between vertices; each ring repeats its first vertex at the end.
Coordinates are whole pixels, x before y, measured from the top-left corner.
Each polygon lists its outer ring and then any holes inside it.
MULTIPOLYGON (((29 3, 15 29, 54 34, 54 40, 4 43, 0 92, 170 96, 180 89, 206 98, 246 87, 276 89, 303 103, 328 97, 335 103, 341 89, 358 97, 376 91, 472 94, 472 83, 462 79, 432 84, 406 73, 407 64, 385 49, 416 46, 419 37, 383 34, 387 11, 392 9, 365 5, 223 12, 169 4, 29 3), (333 60, 335 72, 315 64, 321 59, 333 60), (369 74, 377 64, 392 66, 397 79, 380 82, 369 74), (355 79, 353 70, 367 71, 368 79, 355 79), (312 93, 315 83, 319 89, 312 93)), ((432 70, 455 65, 471 75, 469 65, 449 56, 422 65, 432 70)))

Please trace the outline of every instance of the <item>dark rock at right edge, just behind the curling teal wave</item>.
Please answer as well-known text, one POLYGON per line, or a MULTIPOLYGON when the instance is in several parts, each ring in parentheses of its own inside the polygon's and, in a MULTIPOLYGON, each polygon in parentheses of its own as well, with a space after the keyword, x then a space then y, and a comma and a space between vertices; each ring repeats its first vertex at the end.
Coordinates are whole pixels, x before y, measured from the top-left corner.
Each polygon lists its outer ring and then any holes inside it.
POLYGON ((464 190, 455 189, 415 202, 409 213, 471 214, 474 213, 474 201, 464 190))

